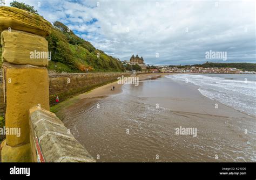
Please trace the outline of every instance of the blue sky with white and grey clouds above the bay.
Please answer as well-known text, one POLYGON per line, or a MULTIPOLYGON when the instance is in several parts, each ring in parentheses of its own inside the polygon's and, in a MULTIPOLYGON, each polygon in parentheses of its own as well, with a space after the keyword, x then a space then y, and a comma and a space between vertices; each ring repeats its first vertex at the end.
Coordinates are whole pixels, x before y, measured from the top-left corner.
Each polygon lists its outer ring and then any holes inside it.
POLYGON ((120 60, 138 54, 146 64, 256 63, 254 0, 22 2, 120 60), (206 59, 209 51, 227 52, 227 60, 206 59))

